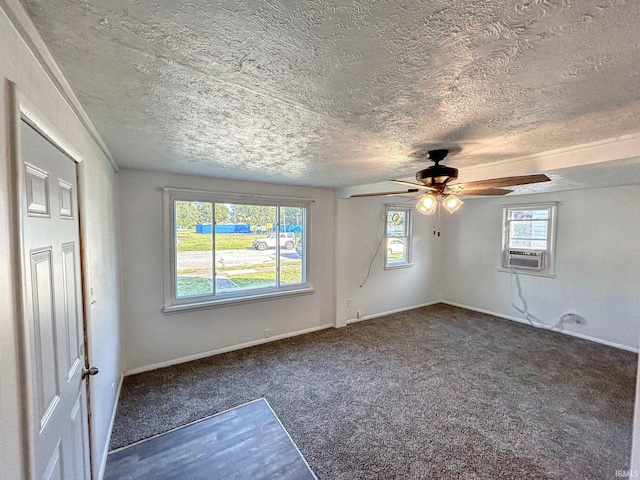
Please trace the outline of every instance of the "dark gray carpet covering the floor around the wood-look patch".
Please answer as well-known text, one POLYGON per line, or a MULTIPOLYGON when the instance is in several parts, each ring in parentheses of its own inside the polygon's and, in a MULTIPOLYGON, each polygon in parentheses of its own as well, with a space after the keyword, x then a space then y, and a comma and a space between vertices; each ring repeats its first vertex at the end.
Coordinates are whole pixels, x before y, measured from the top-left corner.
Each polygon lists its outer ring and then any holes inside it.
POLYGON ((126 377, 111 447, 265 397, 320 479, 615 478, 636 361, 434 305, 126 377))

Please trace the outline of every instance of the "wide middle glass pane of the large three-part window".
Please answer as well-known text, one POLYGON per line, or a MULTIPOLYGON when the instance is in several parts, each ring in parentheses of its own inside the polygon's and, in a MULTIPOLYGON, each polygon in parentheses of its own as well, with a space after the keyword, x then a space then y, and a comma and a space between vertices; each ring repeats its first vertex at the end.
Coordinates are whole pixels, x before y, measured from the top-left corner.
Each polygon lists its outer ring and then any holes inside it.
POLYGON ((217 204, 216 222, 217 293, 275 287, 276 207, 217 204))

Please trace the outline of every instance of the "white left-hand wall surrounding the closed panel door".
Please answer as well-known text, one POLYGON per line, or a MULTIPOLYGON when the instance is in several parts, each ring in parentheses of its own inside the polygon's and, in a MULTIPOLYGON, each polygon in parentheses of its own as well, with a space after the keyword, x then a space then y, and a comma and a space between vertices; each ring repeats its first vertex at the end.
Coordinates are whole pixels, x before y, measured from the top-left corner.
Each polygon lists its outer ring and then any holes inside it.
POLYGON ((105 460, 108 430, 115 408, 112 385, 122 372, 119 350, 119 269, 116 174, 107 157, 84 128, 44 69, 0 10, 0 477, 25 478, 21 460, 24 446, 20 438, 20 378, 15 302, 12 287, 16 281, 10 258, 13 233, 10 224, 10 161, 7 156, 8 130, 6 80, 18 89, 55 126, 59 133, 83 156, 81 180, 85 194, 81 206, 86 214, 83 225, 86 278, 96 292, 96 309, 87 315, 90 360, 100 367, 91 385, 91 432, 94 468, 105 460))

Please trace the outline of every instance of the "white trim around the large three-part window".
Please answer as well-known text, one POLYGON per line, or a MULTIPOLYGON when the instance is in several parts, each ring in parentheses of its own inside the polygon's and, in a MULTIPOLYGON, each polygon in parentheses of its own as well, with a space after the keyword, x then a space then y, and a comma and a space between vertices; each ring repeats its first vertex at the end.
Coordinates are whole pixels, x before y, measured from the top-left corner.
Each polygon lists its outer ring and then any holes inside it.
MULTIPOLYGON (((311 206, 314 202, 310 198, 276 197, 267 195, 235 194, 223 192, 211 192, 207 190, 190 190, 183 188, 164 187, 162 189, 163 201, 163 237, 164 237, 164 313, 175 313, 185 310, 198 310, 205 308, 223 307, 229 305, 239 305, 250 302, 270 300, 293 295, 307 295, 314 292, 311 282, 310 252, 311 246, 311 206), (285 286, 268 287, 244 291, 242 294, 236 292, 222 293, 217 295, 207 295, 201 297, 193 296, 178 299, 175 292, 176 276, 176 242, 174 237, 175 218, 173 203, 176 200, 202 201, 213 203, 247 203, 254 205, 277 205, 278 207, 305 207, 305 237, 304 255, 302 261, 303 275, 305 283, 285 286)), ((278 242, 276 242, 278 245, 278 242)), ((215 265, 214 265, 215 269, 215 265)), ((214 270, 215 273, 215 270, 214 270)), ((215 290, 214 290, 215 292, 215 290)))

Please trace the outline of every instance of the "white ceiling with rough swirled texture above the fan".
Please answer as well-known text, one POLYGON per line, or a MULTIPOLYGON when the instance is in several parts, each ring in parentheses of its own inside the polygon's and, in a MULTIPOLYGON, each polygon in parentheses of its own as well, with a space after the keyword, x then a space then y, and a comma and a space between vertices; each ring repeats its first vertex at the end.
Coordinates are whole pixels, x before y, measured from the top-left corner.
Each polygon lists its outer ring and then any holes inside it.
POLYGON ((123 167, 347 187, 640 131, 640 2, 22 0, 123 167))

